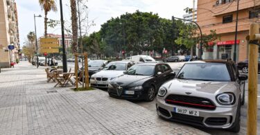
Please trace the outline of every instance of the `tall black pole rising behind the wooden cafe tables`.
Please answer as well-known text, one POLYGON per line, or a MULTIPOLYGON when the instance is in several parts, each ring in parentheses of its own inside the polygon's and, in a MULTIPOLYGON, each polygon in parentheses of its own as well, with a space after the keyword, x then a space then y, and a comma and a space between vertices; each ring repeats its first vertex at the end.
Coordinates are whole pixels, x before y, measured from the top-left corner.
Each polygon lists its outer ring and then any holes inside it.
POLYGON ((62 23, 62 66, 63 72, 67 73, 67 55, 65 50, 65 37, 64 37, 64 20, 63 20, 63 11, 62 11, 62 0, 60 0, 60 22, 62 23))

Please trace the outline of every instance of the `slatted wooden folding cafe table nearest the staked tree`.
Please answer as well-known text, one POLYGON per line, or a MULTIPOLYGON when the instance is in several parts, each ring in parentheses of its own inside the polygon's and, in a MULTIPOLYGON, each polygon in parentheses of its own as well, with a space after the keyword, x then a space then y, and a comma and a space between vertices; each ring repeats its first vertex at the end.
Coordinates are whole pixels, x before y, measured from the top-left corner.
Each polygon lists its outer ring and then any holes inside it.
POLYGON ((71 80, 71 77, 75 73, 59 73, 58 76, 62 75, 62 78, 55 78, 57 80, 57 84, 54 87, 57 87, 59 84, 60 87, 65 87, 69 82, 73 85, 74 83, 71 80))

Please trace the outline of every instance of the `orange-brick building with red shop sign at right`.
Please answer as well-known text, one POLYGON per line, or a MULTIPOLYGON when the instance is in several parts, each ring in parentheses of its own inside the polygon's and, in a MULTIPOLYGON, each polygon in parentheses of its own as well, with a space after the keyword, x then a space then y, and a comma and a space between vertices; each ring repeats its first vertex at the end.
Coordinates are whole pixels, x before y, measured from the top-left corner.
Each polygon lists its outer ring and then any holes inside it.
MULTIPOLYGON (((250 24, 259 22, 260 3, 252 0, 239 1, 238 33, 236 40, 236 62, 248 58, 250 24)), ((234 58, 237 1, 234 0, 200 0, 198 1, 197 23, 202 33, 209 34, 216 30, 218 39, 209 43, 204 49, 203 59, 234 58)), ((198 49, 198 48, 197 48, 198 49)))

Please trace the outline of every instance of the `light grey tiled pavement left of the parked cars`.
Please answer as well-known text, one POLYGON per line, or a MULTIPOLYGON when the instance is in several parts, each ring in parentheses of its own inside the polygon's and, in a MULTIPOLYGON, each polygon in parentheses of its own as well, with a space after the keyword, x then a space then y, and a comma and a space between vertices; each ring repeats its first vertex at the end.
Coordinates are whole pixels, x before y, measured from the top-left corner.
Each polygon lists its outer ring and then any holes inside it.
POLYGON ((206 134, 105 91, 74 92, 20 62, 0 73, 0 134, 206 134))

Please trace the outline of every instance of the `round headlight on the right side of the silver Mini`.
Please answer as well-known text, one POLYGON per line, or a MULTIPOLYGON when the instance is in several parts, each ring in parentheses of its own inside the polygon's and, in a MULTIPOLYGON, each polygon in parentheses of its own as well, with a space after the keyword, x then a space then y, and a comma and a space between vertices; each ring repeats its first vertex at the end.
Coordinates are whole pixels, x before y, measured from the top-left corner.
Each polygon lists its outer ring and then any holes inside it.
POLYGON ((216 100, 220 105, 233 105, 236 99, 233 93, 220 93, 216 100))

